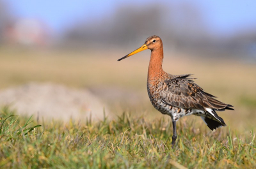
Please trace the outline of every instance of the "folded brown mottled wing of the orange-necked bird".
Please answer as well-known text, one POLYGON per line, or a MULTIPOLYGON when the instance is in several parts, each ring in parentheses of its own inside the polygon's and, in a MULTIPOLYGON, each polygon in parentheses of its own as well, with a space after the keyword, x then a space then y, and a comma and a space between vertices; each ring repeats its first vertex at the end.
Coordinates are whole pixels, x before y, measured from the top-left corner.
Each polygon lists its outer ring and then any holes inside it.
POLYGON ((187 75, 170 75, 168 80, 164 80, 164 90, 161 91, 160 96, 163 103, 179 108, 196 108, 198 110, 205 110, 212 108, 214 110, 233 110, 232 105, 228 105, 218 101, 215 96, 205 92, 201 87, 193 82, 187 75))

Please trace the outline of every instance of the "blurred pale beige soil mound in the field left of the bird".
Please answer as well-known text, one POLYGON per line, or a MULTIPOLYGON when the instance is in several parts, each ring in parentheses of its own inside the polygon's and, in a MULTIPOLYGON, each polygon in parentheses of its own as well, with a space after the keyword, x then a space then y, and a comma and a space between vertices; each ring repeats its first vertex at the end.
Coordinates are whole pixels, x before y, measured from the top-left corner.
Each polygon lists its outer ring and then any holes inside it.
POLYGON ((29 83, 0 91, 0 106, 8 105, 17 114, 34 114, 44 119, 101 120, 107 108, 86 89, 70 89, 64 85, 29 83))

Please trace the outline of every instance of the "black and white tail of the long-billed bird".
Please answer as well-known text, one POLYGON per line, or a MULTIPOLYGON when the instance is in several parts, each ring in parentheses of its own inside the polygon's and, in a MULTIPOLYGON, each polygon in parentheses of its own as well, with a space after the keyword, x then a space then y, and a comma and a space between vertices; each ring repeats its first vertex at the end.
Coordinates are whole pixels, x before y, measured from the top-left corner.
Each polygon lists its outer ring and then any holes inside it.
POLYGON ((211 130, 217 129, 217 128, 221 127, 221 126, 227 126, 225 124, 225 122, 223 121, 223 119, 220 116, 218 116, 218 114, 216 114, 214 109, 206 108, 206 111, 209 112, 209 114, 213 118, 210 119, 210 118, 204 117, 204 116, 201 116, 201 118, 203 119, 203 121, 207 124, 207 126, 211 130))

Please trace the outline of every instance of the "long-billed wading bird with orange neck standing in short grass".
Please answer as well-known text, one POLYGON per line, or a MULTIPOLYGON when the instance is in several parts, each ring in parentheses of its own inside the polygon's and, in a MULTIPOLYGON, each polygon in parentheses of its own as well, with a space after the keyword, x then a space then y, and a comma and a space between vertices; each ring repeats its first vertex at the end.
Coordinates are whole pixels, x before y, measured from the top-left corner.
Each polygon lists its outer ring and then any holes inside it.
POLYGON ((150 102, 161 114, 172 118, 172 147, 177 139, 176 122, 186 115, 200 116, 211 129, 227 126, 216 111, 234 110, 232 105, 218 101, 195 84, 191 74, 172 75, 163 71, 163 42, 159 36, 150 36, 145 43, 130 54, 118 59, 121 61, 143 50, 151 50, 148 66, 147 91, 150 102))

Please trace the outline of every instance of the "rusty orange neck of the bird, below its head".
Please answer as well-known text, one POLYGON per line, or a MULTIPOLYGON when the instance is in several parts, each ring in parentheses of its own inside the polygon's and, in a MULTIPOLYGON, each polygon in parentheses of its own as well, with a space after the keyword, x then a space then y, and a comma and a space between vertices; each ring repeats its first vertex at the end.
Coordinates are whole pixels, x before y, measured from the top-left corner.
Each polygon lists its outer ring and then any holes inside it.
POLYGON ((148 82, 157 80, 159 77, 162 77, 164 74, 162 63, 163 63, 163 47, 158 48, 157 50, 151 51, 150 62, 148 66, 148 82))

